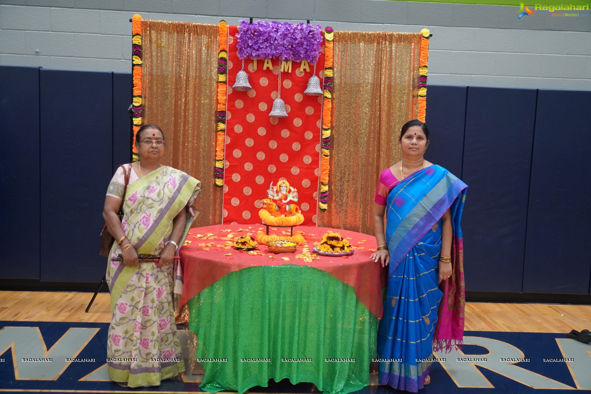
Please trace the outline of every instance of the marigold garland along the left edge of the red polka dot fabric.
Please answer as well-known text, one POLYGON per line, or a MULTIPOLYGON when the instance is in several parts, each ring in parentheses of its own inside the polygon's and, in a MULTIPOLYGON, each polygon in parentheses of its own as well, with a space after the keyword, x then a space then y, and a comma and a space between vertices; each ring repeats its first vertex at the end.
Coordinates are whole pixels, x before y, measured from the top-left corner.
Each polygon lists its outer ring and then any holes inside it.
POLYGON ((217 106, 216 106, 216 159, 213 176, 217 186, 223 186, 224 149, 226 142, 226 96, 228 93, 228 24, 220 21, 217 27, 217 106))

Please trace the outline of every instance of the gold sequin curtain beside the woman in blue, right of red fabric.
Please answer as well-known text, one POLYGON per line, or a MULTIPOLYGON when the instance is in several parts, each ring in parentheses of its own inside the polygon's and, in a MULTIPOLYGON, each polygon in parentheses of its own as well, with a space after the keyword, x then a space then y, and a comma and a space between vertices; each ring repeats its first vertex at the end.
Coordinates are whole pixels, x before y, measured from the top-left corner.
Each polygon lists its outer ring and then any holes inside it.
POLYGON ((374 234, 379 173, 401 159, 418 116, 421 34, 335 31, 328 210, 318 225, 374 234))

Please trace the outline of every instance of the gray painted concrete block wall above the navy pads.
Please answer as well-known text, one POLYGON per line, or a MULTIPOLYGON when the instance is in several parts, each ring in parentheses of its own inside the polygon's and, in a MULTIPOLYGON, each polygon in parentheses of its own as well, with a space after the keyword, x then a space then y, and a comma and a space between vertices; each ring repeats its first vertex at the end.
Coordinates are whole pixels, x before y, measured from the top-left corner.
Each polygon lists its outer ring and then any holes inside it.
POLYGON ((591 90, 591 17, 556 18, 518 7, 383 0, 0 0, 0 64, 131 71, 133 14, 238 24, 253 17, 337 30, 427 27, 429 83, 591 90))

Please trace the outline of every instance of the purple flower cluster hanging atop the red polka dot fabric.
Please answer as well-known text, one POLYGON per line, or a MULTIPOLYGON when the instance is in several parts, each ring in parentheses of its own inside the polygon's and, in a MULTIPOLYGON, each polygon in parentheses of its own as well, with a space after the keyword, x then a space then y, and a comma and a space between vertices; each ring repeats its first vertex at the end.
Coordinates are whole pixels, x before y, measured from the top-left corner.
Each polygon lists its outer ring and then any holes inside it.
POLYGON ((322 45, 322 27, 305 23, 247 21, 240 22, 238 57, 316 63, 322 45))

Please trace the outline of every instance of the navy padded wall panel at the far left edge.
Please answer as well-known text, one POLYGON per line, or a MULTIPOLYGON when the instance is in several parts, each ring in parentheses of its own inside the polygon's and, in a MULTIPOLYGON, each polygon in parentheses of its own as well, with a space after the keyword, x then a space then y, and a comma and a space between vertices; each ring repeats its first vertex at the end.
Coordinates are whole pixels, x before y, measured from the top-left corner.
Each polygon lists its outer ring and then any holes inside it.
POLYGON ((39 69, 0 66, 0 278, 39 279, 39 69))

